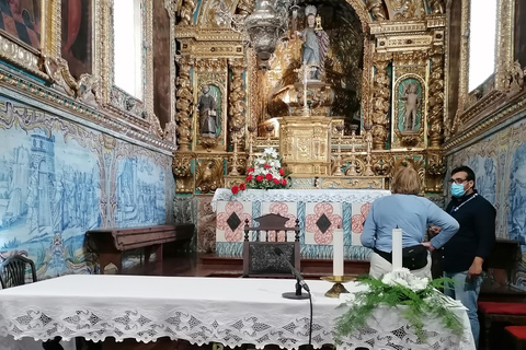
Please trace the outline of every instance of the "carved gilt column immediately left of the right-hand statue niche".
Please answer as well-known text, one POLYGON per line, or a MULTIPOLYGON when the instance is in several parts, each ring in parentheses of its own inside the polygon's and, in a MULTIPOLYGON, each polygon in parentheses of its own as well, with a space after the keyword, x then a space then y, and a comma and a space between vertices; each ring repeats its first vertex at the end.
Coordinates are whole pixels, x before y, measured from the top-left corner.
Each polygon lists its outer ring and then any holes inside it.
POLYGON ((387 114, 390 107, 391 92, 389 90, 390 79, 387 73, 387 66, 391 62, 392 54, 375 54, 374 66, 376 67, 376 74, 373 80, 373 149, 384 150, 388 137, 387 127, 389 119, 387 114))

